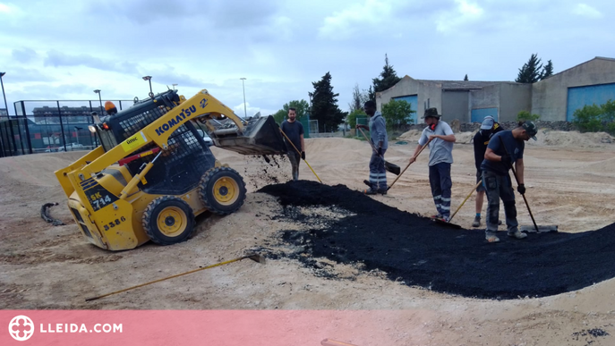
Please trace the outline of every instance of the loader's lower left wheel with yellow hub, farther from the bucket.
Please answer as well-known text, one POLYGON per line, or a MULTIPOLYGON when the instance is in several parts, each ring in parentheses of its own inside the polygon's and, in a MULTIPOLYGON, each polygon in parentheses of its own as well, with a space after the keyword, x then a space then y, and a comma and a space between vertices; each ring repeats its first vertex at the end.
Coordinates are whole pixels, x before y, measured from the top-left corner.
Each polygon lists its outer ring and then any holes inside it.
POLYGON ((163 196, 149 202, 141 223, 151 241, 172 245, 190 238, 194 232, 194 213, 181 198, 163 196))

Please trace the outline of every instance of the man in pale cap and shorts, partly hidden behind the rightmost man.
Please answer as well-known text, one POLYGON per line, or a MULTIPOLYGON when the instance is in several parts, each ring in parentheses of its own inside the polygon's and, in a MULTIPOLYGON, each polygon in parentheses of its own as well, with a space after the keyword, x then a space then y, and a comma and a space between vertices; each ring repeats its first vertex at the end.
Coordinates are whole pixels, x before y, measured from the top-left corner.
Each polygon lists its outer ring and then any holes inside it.
MULTIPOLYGON (((487 151, 489 139, 495 133, 502 131, 500 123, 496 122, 491 115, 485 116, 481 124, 481 130, 474 135, 474 165, 476 165, 476 183, 483 180, 483 171, 481 165, 484 160, 484 153, 487 151)), ((476 188, 476 216, 472 227, 481 226, 481 211, 483 211, 484 186, 478 185, 476 188)))

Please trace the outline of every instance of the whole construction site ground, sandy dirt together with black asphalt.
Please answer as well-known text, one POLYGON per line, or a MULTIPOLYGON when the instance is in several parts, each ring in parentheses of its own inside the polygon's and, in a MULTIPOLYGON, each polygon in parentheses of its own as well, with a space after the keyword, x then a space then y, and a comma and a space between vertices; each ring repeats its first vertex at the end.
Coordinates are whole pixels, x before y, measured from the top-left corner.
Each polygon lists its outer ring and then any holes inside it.
MULTIPOLYGON (((471 137, 469 132, 457 135, 453 209, 475 184, 471 137)), ((557 224, 560 233, 516 241, 501 226, 499 244, 486 243, 483 229, 471 227, 474 198, 453 220, 464 230, 420 217, 435 211, 427 151, 387 196, 366 197, 357 192, 368 178, 371 149, 364 141, 306 139, 307 160, 328 187, 316 185, 303 163, 301 179, 306 181, 286 183, 286 158, 212 148, 218 160, 243 175, 249 192, 243 207, 233 215, 199 217, 195 234, 184 243, 148 243, 121 252, 84 240, 53 173, 85 152, 4 157, 0 308, 378 310, 379 316, 391 311, 395 318, 381 317, 380 325, 362 326, 337 339, 379 344, 369 333, 378 328, 393 341, 387 344, 396 345, 615 344, 615 272, 610 269, 615 267, 615 144, 606 134, 540 131, 538 137, 525 148, 526 197, 537 223, 557 224), (261 189, 269 193, 257 192, 261 189), (40 207, 49 202, 60 203, 50 215, 65 225, 41 219, 40 207), (349 234, 348 225, 357 233, 349 234), (411 248, 416 244, 420 248, 411 248), (267 264, 243 260, 85 301, 241 257, 251 249, 267 256, 267 264), (371 257, 361 257, 368 253, 371 257), (525 276, 515 280, 520 273, 525 276), (573 274, 578 274, 574 284, 559 284, 559 278, 570 280, 573 274)), ((410 131, 400 138, 407 144, 391 140, 387 160, 403 168, 417 138, 418 132, 410 131)), ((394 178, 389 175, 389 183, 394 178)), ((486 200, 483 215, 485 208, 486 200)), ((522 198, 517 198, 517 213, 520 224, 532 224, 522 198)))

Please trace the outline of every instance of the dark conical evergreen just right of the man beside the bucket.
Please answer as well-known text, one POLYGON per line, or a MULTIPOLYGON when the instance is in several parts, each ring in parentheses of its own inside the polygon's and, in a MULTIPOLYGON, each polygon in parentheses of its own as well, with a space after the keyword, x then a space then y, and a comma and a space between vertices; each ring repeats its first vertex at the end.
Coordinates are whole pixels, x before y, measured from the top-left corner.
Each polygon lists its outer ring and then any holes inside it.
POLYGON ((314 91, 310 93, 312 97, 310 120, 318 120, 318 131, 320 132, 324 132, 325 129, 337 129, 337 126, 344 122, 347 113, 337 107, 339 94, 333 93, 331 74, 327 72, 321 80, 312 82, 312 86, 314 91))

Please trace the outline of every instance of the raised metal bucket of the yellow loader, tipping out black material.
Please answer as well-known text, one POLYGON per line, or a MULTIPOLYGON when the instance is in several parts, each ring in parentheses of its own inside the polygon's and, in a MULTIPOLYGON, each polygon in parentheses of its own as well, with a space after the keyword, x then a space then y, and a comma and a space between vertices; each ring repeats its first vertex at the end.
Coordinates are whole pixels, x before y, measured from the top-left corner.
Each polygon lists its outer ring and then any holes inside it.
POLYGON ((243 133, 234 126, 212 131, 209 137, 216 147, 243 155, 286 154, 286 144, 282 139, 278 123, 271 115, 252 119, 243 128, 243 133))

